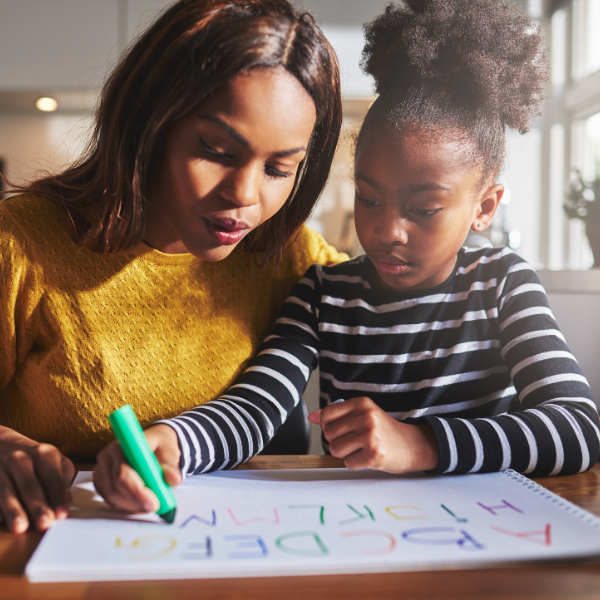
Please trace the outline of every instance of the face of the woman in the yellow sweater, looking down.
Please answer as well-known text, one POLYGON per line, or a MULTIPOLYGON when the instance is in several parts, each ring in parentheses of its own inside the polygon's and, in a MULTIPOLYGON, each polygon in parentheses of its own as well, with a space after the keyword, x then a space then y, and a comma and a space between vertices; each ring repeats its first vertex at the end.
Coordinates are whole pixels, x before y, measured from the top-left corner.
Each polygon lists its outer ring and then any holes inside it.
POLYGON ((148 193, 144 240, 226 258, 292 192, 315 105, 283 68, 238 75, 175 123, 148 193))

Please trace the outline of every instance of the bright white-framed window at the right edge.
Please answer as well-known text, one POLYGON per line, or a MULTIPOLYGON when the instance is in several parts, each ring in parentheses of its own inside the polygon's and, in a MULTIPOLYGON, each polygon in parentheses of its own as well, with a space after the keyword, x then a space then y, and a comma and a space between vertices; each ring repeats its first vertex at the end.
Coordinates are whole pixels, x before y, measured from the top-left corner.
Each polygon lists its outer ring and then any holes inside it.
POLYGON ((589 182, 600 177, 600 0, 560 4, 544 22, 552 89, 542 122, 540 262, 587 269, 594 257, 586 223, 569 219, 563 205, 577 172, 589 182))

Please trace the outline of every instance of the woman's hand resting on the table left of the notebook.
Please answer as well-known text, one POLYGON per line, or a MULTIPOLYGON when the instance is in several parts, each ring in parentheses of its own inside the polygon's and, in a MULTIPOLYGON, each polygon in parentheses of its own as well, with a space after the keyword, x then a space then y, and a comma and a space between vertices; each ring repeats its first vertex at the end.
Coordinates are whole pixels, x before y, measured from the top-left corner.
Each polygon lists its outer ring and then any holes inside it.
POLYGON ((73 463, 54 446, 0 427, 0 523, 24 533, 65 519, 74 474, 73 463))

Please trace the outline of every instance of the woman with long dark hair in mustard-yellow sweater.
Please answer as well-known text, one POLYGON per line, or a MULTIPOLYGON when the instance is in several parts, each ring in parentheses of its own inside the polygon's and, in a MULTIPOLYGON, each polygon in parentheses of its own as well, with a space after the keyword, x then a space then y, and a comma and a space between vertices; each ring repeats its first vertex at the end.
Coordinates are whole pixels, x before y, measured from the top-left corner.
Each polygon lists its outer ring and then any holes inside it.
POLYGON ((122 57, 87 153, 0 202, 0 522, 66 516, 107 414, 215 398, 341 259, 302 227, 340 124, 335 54, 286 0, 182 0, 122 57))

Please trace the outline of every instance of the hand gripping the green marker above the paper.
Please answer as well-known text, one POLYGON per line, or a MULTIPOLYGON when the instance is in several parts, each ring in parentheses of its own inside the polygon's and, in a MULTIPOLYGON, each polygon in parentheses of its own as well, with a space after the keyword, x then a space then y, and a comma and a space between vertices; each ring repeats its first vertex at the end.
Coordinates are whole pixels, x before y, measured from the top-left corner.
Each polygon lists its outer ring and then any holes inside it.
MULTIPOLYGON (((173 428, 154 425, 146 429, 144 434, 163 468, 165 481, 169 485, 179 485, 183 479, 179 470, 181 452, 173 428)), ((127 464, 116 440, 98 454, 94 485, 98 493, 117 510, 129 513, 156 512, 160 505, 154 492, 127 464)))

